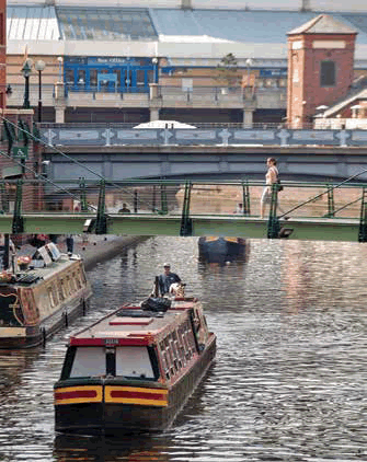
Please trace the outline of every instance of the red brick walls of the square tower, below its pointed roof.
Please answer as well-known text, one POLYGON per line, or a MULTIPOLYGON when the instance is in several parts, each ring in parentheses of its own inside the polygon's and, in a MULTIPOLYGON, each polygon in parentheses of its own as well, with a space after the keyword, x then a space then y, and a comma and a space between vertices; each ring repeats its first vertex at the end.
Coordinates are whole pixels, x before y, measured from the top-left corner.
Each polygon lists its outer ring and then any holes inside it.
POLYGON ((302 34, 288 38, 287 117, 290 124, 311 122, 318 106, 330 106, 346 95, 353 81, 354 47, 355 34, 302 34), (314 41, 325 41, 328 47, 313 48, 314 41), (332 42, 344 42, 345 46, 332 48, 332 42), (334 86, 321 86, 322 61, 335 62, 334 86))

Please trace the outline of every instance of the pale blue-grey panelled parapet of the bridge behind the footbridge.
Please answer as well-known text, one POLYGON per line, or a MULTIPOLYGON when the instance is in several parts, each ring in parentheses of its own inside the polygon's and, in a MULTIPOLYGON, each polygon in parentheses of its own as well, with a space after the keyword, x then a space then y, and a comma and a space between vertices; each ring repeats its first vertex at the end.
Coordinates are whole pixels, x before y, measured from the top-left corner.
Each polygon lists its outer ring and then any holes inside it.
POLYGON ((263 125, 203 126, 187 124, 138 127, 140 124, 42 124, 41 137, 46 145, 59 146, 365 146, 366 130, 288 129, 263 125))

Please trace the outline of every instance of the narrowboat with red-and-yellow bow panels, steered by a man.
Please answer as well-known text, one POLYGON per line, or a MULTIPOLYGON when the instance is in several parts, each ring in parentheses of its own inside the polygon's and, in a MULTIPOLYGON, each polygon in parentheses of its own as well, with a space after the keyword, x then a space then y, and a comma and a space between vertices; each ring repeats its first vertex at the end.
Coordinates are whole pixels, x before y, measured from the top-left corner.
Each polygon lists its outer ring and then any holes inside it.
POLYGON ((216 354, 200 302, 149 298, 126 304, 69 339, 54 385, 59 432, 167 429, 216 354))

